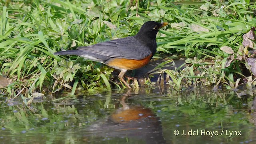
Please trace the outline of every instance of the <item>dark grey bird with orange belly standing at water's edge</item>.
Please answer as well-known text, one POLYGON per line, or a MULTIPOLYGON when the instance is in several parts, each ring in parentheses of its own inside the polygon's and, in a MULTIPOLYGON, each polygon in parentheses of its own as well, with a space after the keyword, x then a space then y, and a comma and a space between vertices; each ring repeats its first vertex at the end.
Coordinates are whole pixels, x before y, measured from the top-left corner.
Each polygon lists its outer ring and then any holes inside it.
POLYGON ((124 80, 128 70, 141 68, 148 64, 156 53, 156 34, 168 22, 145 22, 134 36, 119 38, 90 46, 78 47, 76 50, 54 52, 54 55, 77 55, 86 59, 106 64, 120 70, 118 78, 131 88, 124 80))

